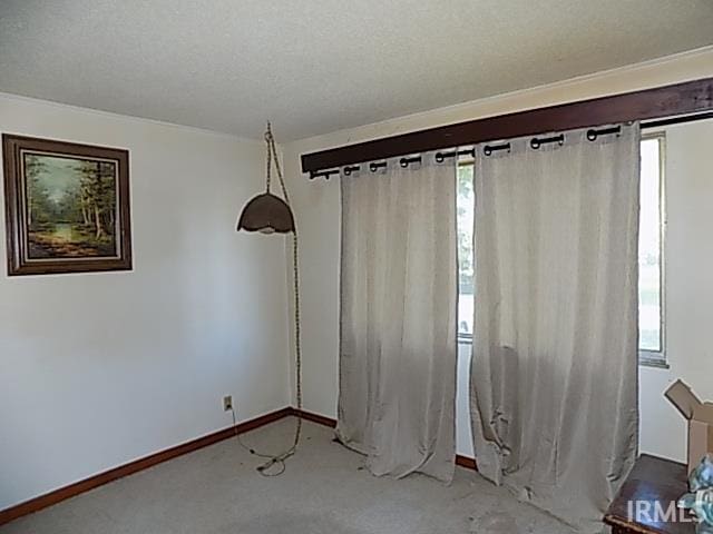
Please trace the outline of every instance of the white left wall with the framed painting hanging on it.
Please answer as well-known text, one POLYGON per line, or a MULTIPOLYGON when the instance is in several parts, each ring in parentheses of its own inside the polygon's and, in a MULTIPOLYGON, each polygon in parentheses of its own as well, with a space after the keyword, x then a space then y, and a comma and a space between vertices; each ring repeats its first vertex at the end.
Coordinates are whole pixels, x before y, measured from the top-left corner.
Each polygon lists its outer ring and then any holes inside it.
POLYGON ((262 142, 9 96, 0 131, 128 148, 135 258, 0 274, 0 510, 290 403, 284 238, 235 231, 262 142))

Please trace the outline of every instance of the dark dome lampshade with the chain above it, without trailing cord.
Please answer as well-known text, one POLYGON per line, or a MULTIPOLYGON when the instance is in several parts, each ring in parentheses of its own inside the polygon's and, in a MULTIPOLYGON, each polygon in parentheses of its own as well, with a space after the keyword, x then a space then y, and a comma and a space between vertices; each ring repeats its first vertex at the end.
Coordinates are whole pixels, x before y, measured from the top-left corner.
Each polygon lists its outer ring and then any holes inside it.
POLYGON ((277 151, 275 150, 275 139, 272 136, 270 122, 267 122, 267 130, 265 131, 265 144, 267 145, 265 192, 253 197, 245 205, 237 222, 237 229, 260 231, 261 234, 289 234, 290 231, 294 231, 294 216, 287 204, 287 190, 282 178, 277 151), (282 187, 282 195, 285 197, 284 200, 270 191, 273 158, 280 186, 282 187))

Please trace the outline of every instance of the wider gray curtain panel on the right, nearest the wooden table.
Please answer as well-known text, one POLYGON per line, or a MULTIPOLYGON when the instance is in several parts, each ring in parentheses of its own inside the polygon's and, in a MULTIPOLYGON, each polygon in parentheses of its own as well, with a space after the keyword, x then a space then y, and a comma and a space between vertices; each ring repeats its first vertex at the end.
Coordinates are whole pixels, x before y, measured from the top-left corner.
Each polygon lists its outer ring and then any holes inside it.
POLYGON ((637 453, 638 172, 637 126, 478 150, 478 468, 583 532, 637 453))

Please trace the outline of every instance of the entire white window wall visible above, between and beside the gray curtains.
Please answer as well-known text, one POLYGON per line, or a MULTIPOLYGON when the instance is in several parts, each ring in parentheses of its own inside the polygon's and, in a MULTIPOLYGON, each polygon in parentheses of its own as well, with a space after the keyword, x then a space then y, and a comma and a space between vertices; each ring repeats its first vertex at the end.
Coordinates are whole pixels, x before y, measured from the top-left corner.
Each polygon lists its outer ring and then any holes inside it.
MULTIPOLYGON (((336 413, 340 201, 336 179, 310 181, 306 175, 301 174, 301 154, 420 128, 705 77, 713 77, 713 48, 286 145, 286 175, 291 179, 301 235, 305 409, 332 417, 336 413)), ((710 162, 713 137, 710 129, 704 131, 705 128, 710 126, 701 125, 696 130, 680 127, 671 131, 666 254, 672 366, 667 372, 649 368, 641 372, 642 449, 675 459, 684 458, 684 425, 662 397, 662 392, 674 377, 682 376, 702 396, 713 397, 713 383, 710 378, 706 380, 713 374, 713 348, 710 348, 713 342, 707 335, 711 326, 705 325, 705 319, 710 318, 710 313, 707 317, 705 315, 706 307, 713 306, 711 284, 705 279, 713 261, 713 240, 707 236, 713 227, 713 209, 710 208, 713 199, 713 166, 710 162), (703 135, 697 137, 699 134, 703 135), (692 150, 684 147, 688 145, 686 138, 697 139, 699 156, 690 159, 682 155, 684 149, 692 150)), ((470 455, 465 387, 469 349, 461 346, 459 353, 458 452, 470 455)))

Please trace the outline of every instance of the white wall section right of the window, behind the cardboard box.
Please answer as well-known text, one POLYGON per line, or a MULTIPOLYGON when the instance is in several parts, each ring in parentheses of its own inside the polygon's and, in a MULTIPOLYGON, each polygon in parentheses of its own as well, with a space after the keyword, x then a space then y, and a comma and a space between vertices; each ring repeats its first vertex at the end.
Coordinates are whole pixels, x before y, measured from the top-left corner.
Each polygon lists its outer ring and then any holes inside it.
POLYGON ((666 335, 670 369, 642 368, 642 449, 685 459, 685 423, 661 398, 681 377, 713 400, 713 120, 666 128, 666 335))

